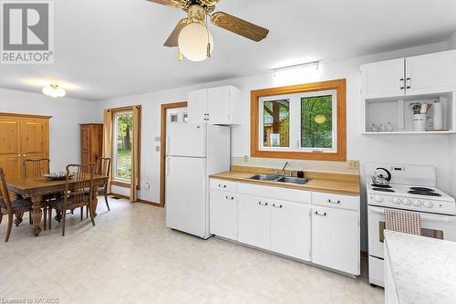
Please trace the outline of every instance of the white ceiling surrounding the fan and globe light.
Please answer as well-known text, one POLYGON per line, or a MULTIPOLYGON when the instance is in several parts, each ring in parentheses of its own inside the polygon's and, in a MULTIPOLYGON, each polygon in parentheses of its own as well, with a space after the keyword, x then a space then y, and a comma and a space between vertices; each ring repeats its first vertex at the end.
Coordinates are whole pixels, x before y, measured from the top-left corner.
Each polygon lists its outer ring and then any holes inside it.
POLYGON ((39 92, 57 80, 69 97, 105 100, 413 47, 456 30, 454 0, 222 0, 217 10, 269 28, 269 37, 254 43, 212 26, 212 58, 192 63, 162 47, 184 16, 179 9, 145 0, 54 4, 55 63, 2 65, 0 87, 39 92))

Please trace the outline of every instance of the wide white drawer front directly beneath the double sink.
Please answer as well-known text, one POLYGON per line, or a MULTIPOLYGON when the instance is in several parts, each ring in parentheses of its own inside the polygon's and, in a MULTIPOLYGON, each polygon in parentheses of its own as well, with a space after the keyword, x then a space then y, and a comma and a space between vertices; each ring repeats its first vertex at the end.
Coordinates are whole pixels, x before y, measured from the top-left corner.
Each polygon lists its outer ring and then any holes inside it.
POLYGON ((263 196, 296 203, 310 203, 310 192, 304 190, 271 187, 252 183, 239 183, 238 192, 240 194, 263 196))

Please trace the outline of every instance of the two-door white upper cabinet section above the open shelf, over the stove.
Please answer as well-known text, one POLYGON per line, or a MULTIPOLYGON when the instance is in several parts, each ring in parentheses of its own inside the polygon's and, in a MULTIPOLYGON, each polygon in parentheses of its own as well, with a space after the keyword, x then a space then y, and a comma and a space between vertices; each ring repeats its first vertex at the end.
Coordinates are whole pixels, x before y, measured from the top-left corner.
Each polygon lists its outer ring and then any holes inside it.
POLYGON ((456 90, 456 50, 361 66, 364 99, 456 90))

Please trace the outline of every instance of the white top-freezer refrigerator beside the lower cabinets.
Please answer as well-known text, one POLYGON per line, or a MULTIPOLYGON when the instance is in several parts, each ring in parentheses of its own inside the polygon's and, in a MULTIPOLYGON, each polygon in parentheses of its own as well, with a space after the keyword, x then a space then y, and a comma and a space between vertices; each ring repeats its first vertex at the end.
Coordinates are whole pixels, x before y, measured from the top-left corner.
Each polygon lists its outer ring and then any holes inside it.
POLYGON ((209 234, 209 175, 230 170, 230 128, 173 122, 167 138, 166 226, 209 234))

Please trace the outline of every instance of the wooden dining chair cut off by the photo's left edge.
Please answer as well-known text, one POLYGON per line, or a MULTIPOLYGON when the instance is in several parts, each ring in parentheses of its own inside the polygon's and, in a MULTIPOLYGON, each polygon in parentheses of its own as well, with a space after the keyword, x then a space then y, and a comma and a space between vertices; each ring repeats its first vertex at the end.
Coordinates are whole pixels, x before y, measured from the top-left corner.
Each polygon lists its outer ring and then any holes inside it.
POLYGON ((0 224, 2 223, 3 215, 7 215, 8 228, 5 237, 5 242, 7 242, 11 235, 11 228, 13 227, 13 215, 22 216, 24 213, 29 212, 29 216, 32 218, 32 201, 27 198, 11 201, 8 187, 6 186, 5 173, 2 168, 0 168, 0 179, 0 224))

